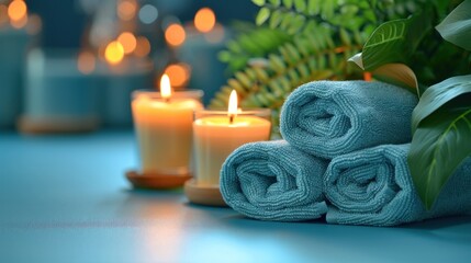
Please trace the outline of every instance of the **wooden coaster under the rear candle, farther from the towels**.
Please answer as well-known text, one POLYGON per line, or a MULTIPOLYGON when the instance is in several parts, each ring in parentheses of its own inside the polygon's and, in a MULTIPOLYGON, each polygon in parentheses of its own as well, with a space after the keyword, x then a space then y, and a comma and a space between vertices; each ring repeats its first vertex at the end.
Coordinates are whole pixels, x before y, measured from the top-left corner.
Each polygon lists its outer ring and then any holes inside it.
POLYGON ((127 171, 126 179, 137 188, 168 190, 183 186, 184 182, 191 179, 191 174, 144 174, 137 171, 127 171))

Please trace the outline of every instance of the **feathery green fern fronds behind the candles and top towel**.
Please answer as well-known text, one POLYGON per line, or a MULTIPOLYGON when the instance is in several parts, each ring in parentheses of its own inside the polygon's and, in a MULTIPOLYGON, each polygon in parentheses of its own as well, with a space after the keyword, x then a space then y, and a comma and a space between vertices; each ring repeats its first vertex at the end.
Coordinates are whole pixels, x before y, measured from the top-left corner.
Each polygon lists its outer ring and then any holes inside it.
POLYGON ((235 89, 243 107, 272 110, 272 134, 277 137, 279 110, 292 90, 313 80, 361 79, 363 73, 348 64, 348 58, 361 50, 379 23, 414 13, 427 1, 253 2, 260 7, 256 16, 259 26, 244 32, 220 54, 233 70, 233 77, 215 94, 210 107, 225 107, 229 92, 235 89), (262 35, 271 31, 283 32, 288 37, 277 35, 280 38, 268 39, 272 45, 255 41, 267 39, 262 35))

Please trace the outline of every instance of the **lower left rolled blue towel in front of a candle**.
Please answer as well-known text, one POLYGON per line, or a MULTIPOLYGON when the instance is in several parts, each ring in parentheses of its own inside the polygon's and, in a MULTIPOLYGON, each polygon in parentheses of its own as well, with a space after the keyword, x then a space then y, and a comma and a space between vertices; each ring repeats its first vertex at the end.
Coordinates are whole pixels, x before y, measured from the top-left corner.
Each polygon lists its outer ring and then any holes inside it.
POLYGON ((284 140, 251 142, 236 149, 221 170, 224 201, 240 214, 277 221, 300 221, 327 211, 323 181, 327 162, 284 140))

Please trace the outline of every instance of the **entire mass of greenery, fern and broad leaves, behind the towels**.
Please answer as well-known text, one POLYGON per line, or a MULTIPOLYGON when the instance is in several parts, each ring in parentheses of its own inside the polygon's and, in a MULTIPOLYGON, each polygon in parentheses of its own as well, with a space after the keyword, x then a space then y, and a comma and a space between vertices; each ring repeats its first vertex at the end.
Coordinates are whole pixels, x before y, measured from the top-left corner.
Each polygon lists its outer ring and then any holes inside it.
MULTIPOLYGON (((471 0, 253 2, 260 7, 257 24, 268 24, 289 38, 258 53, 236 39, 239 50, 228 48, 222 57, 248 55, 233 67, 233 77, 210 106, 226 106, 235 89, 243 106, 272 108, 277 128, 284 99, 300 84, 361 78, 362 72, 346 62, 350 58, 375 79, 420 98, 413 114, 408 163, 418 194, 430 208, 449 176, 471 155, 471 0), (254 57, 257 62, 248 62, 254 57)), ((257 34, 270 28, 251 30, 257 34)))

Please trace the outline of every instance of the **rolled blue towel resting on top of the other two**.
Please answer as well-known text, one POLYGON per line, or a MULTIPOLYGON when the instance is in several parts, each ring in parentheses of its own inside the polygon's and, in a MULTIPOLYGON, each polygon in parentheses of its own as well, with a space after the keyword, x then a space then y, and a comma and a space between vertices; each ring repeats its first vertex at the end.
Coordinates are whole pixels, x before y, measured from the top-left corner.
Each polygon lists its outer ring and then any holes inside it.
POLYGON ((314 81, 288 96, 280 132, 292 146, 332 159, 372 146, 410 142, 416 104, 415 94, 383 82, 314 81))

